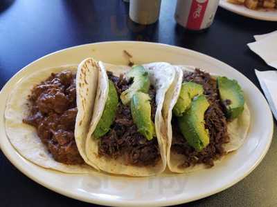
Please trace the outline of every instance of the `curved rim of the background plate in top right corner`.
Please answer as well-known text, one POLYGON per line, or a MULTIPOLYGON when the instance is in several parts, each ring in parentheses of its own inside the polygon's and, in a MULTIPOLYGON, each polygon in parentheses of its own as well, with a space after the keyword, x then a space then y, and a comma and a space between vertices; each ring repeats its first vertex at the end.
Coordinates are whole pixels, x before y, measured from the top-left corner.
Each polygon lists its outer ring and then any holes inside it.
POLYGON ((228 10, 228 11, 233 12, 235 14, 240 14, 244 17, 248 17, 248 18, 251 18, 251 19, 258 19, 258 20, 263 20, 263 21, 277 21, 277 10, 276 10, 276 17, 271 18, 271 17, 262 16, 262 15, 260 16, 260 15, 249 14, 247 12, 243 12, 243 11, 238 10, 236 8, 236 6, 240 6, 240 5, 231 4, 231 3, 227 2, 226 0, 220 0, 219 6, 224 8, 225 10, 228 10))

